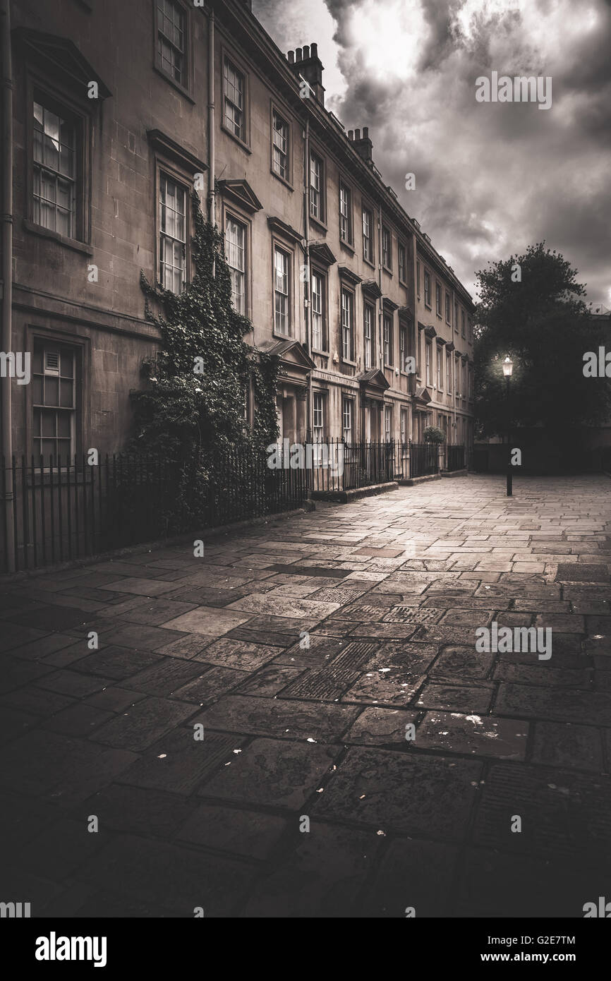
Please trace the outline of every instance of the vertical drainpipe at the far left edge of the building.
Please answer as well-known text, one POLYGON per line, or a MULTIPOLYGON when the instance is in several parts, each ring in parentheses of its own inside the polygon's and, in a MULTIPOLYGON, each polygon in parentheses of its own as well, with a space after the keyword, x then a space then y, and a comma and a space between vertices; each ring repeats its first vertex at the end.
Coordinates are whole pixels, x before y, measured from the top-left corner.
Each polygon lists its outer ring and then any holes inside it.
MULTIPOLYGON (((13 64, 11 58, 10 0, 0 0, 2 48, 2 350, 13 348, 13 64)), ((7 572, 15 572, 15 502, 13 499, 13 434, 11 381, 0 380, 2 406, 3 496, 6 515, 7 572)))

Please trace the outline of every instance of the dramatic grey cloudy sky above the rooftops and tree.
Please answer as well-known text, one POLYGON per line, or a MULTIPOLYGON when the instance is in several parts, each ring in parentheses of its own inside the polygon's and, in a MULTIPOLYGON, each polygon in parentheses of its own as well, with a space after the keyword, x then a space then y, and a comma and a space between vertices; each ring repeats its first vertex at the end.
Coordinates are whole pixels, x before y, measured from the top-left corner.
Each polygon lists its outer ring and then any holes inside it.
POLYGON ((253 0, 284 52, 317 41, 326 105, 462 282, 546 239, 611 307, 611 0, 253 0), (476 78, 549 76, 552 105, 476 78), (416 189, 405 190, 405 174, 416 189))

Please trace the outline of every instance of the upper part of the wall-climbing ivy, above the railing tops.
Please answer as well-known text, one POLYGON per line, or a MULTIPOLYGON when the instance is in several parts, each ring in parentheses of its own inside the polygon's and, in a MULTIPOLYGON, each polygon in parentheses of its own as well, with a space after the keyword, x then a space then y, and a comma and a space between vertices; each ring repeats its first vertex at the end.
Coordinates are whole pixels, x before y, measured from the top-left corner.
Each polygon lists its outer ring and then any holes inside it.
POLYGON ((244 341, 250 321, 231 304, 223 235, 205 222, 192 195, 192 281, 181 293, 149 284, 141 274, 149 320, 162 346, 144 362, 148 386, 130 393, 135 436, 130 448, 182 462, 230 447, 263 446, 276 439, 278 359, 244 341), (151 301, 162 313, 155 316, 151 301), (252 430, 244 405, 252 378, 257 411, 252 430))

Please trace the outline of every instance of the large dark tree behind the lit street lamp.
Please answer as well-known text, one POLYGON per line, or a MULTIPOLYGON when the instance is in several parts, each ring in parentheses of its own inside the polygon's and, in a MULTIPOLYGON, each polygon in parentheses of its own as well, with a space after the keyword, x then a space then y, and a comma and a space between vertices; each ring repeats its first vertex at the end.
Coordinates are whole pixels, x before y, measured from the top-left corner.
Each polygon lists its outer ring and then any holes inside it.
POLYGON ((477 273, 475 382, 482 436, 506 431, 501 365, 507 354, 514 362, 513 427, 541 425, 561 443, 608 416, 609 383, 584 376, 584 354, 605 338, 581 299, 586 287, 577 275, 544 241, 477 273))

